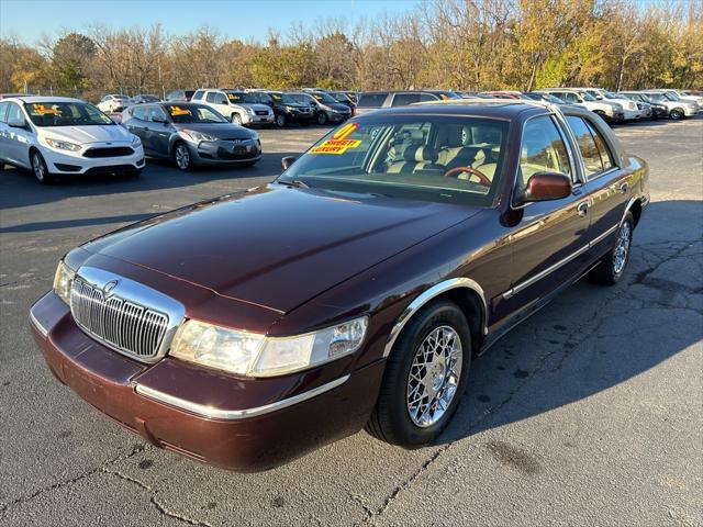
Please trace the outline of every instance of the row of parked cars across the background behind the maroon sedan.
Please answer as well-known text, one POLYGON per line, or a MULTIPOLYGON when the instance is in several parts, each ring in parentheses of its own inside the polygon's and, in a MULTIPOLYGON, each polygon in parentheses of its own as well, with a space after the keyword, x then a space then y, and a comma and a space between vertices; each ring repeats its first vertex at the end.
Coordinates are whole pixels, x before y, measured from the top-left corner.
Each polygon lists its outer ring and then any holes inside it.
POLYGON ((316 88, 199 89, 169 92, 166 101, 148 94, 133 99, 108 94, 97 108, 78 99, 0 96, 0 164, 30 169, 42 183, 67 175, 138 176, 145 157, 170 159, 181 170, 197 165, 247 166, 261 156, 258 134, 248 127, 324 125, 382 108, 496 98, 580 106, 607 123, 676 121, 703 109, 703 92, 670 89, 620 93, 599 88, 360 93, 316 88))

